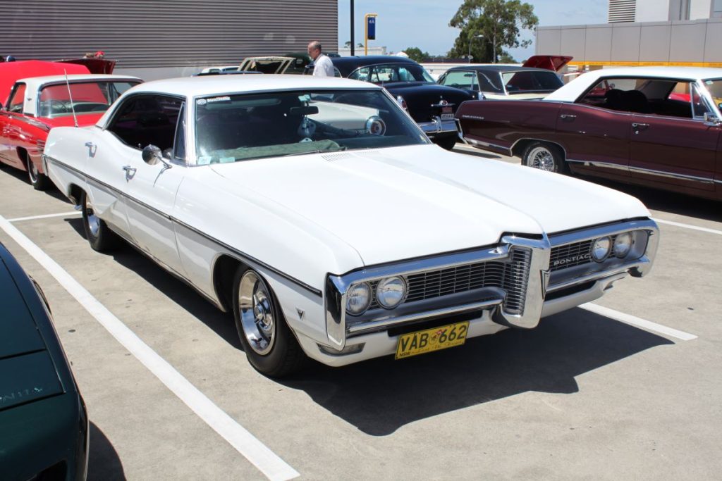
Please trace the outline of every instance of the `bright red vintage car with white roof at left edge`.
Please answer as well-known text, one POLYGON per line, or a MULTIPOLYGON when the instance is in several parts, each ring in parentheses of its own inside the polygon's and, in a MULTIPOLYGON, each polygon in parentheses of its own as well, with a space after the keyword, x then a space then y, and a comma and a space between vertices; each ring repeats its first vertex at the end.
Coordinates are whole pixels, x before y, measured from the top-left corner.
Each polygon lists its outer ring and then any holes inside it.
POLYGON ((96 123, 123 92, 142 81, 40 61, 0 63, 0 79, 0 92, 9 92, 0 96, 0 162, 27 170, 37 190, 50 185, 40 162, 50 129, 96 123))

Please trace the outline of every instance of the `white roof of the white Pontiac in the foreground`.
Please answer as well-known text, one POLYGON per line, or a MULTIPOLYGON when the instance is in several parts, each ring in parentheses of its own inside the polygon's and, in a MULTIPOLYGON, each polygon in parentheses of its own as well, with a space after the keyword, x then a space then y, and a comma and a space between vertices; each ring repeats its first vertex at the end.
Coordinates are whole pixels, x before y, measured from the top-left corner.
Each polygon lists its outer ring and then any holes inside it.
POLYGON ((367 82, 315 77, 310 75, 218 75, 180 77, 148 81, 128 92, 155 92, 161 94, 199 97, 243 92, 274 92, 295 89, 380 89, 367 82))

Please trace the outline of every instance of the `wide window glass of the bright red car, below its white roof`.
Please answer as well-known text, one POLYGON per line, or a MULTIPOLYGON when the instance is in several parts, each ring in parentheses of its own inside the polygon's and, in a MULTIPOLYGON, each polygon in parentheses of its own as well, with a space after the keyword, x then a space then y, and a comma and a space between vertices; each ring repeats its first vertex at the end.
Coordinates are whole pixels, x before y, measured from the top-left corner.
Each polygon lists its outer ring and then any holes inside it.
POLYGON ((88 81, 48 85, 40 90, 38 117, 64 117, 81 113, 105 112, 123 92, 139 82, 88 81))

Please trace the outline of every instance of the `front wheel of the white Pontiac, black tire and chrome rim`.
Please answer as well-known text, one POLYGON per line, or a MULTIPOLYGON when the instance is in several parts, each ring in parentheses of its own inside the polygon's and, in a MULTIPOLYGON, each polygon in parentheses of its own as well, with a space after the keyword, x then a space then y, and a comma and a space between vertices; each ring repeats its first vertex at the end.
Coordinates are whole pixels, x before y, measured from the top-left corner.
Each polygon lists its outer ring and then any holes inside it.
POLYGON ((301 369, 305 353, 264 278, 253 269, 239 266, 233 278, 232 300, 235 327, 251 366, 270 377, 288 376, 301 369))

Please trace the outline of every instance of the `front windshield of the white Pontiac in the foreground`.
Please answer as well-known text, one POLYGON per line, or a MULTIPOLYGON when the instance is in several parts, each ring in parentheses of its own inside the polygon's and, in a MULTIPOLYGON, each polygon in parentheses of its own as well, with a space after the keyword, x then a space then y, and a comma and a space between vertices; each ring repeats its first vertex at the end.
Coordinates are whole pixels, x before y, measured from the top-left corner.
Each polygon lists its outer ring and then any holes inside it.
POLYGON ((428 143, 381 90, 224 95, 195 104, 201 165, 428 143))

